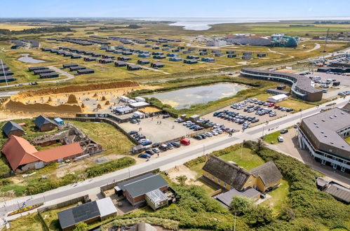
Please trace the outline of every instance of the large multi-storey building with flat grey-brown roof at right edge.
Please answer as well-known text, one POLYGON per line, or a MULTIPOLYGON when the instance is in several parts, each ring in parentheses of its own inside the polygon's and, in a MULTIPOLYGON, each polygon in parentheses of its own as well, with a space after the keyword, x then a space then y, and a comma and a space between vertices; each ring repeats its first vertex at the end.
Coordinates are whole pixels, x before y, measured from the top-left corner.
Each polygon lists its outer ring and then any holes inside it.
POLYGON ((350 114, 342 109, 330 109, 302 119, 297 129, 300 148, 333 169, 350 172, 350 114))

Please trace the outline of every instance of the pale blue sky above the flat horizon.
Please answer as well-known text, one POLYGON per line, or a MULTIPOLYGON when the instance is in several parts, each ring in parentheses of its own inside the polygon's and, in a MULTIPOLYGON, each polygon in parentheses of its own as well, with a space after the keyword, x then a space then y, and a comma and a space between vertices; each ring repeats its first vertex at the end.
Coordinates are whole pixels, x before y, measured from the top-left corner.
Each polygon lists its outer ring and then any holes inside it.
POLYGON ((350 17, 350 0, 12 0, 0 18, 350 17))

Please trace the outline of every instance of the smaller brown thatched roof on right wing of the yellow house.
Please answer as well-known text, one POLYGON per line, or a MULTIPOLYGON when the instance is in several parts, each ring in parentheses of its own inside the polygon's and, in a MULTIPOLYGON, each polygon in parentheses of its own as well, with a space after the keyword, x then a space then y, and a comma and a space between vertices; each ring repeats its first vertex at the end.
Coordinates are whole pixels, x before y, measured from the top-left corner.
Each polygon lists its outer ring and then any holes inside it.
POLYGON ((273 161, 266 162, 264 165, 251 169, 250 174, 255 177, 260 177, 265 186, 267 186, 269 183, 274 183, 281 180, 283 177, 273 161))

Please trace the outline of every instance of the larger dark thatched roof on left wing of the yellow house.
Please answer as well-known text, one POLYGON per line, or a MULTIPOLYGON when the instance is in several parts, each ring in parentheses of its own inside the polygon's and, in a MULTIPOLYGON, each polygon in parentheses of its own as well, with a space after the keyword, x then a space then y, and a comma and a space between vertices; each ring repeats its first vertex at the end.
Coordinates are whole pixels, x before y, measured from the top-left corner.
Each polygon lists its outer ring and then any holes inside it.
POLYGON ((250 173, 229 162, 221 160, 215 155, 208 155, 209 159, 206 165, 203 166, 203 170, 216 176, 218 179, 228 183, 230 186, 236 188, 236 190, 242 190, 245 182, 248 180, 250 173))

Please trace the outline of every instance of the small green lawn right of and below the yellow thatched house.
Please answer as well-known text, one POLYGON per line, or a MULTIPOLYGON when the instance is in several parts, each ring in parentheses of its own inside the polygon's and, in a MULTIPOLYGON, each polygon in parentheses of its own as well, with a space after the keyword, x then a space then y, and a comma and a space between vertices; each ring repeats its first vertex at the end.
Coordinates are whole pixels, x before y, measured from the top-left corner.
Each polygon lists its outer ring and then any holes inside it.
POLYGON ((288 192, 289 192, 288 181, 285 181, 284 179, 282 179, 281 185, 278 186, 278 188, 276 188, 275 190, 272 190, 271 193, 269 193, 271 198, 269 200, 262 202, 262 204, 271 207, 273 214, 277 216, 281 212, 283 203, 285 203, 285 200, 287 200, 288 192))

